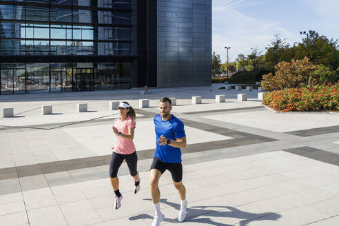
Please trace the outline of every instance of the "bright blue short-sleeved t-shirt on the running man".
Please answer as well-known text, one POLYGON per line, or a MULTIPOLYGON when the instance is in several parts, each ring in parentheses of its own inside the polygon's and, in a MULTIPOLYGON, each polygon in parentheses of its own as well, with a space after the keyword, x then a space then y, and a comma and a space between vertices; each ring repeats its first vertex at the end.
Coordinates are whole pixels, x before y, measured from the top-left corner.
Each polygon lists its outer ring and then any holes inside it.
POLYGON ((157 141, 161 135, 172 141, 186 136, 183 122, 174 115, 172 115, 169 121, 163 121, 160 114, 154 116, 153 121, 156 132, 156 152, 154 153, 154 157, 164 163, 181 163, 180 148, 170 145, 159 145, 157 141))

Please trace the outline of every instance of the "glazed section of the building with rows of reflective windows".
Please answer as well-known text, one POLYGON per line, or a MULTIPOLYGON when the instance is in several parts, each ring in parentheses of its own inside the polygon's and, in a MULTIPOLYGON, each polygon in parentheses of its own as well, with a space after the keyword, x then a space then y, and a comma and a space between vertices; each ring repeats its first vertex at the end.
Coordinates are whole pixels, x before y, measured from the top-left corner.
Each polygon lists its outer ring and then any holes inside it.
POLYGON ((0 1, 1 94, 131 87, 131 0, 0 1))

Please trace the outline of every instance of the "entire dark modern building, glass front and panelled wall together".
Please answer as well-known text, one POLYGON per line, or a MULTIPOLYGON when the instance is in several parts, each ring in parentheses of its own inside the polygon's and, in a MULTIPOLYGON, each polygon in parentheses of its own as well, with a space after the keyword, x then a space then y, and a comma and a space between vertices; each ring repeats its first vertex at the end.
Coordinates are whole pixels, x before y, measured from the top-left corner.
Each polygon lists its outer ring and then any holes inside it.
POLYGON ((210 85, 212 0, 0 0, 0 94, 210 85))

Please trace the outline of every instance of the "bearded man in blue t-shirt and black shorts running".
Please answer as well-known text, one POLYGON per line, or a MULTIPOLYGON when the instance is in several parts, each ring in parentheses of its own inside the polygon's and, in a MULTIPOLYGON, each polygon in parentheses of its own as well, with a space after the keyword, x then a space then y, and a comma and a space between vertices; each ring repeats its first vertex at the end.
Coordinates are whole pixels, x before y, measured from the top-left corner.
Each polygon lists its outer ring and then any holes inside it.
POLYGON ((171 114, 172 101, 163 97, 160 100, 160 114, 154 116, 156 132, 156 151, 150 172, 150 189, 154 204, 155 216, 152 226, 159 226, 165 218, 160 211, 160 190, 158 182, 165 170, 172 174, 173 185, 181 198, 178 221, 186 217, 186 189, 183 185, 183 165, 181 165, 181 148, 186 147, 186 134, 183 122, 171 114))

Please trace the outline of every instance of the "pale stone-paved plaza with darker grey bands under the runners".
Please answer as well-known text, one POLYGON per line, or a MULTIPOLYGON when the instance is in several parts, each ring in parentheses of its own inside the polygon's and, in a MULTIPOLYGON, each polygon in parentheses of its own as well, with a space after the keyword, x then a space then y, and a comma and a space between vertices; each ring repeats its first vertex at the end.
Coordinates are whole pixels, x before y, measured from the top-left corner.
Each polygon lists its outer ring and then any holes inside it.
POLYGON ((339 114, 275 113, 258 91, 212 87, 110 90, 0 96, 0 225, 151 225, 153 117, 161 96, 185 123, 183 183, 187 218, 169 172, 161 177, 161 225, 339 225, 339 114), (245 93, 247 101, 238 102, 245 93), (225 94, 225 103, 215 95, 225 94), (203 103, 192 105, 192 96, 203 103), (150 99, 139 109, 138 99, 150 99), (119 170, 121 209, 108 178, 112 121, 109 101, 128 101, 137 114, 134 143, 141 191, 126 163, 119 170), (88 112, 77 112, 88 103, 88 112), (42 115, 41 105, 53 105, 42 115), (14 107, 14 117, 2 109, 14 107))

